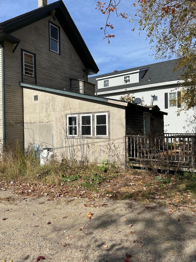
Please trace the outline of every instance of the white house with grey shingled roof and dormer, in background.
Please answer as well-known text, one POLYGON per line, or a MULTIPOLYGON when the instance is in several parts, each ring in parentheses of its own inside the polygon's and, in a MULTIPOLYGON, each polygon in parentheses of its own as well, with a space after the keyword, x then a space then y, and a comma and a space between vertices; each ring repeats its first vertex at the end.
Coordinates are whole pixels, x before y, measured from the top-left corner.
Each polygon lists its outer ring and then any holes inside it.
MULTIPOLYGON (((167 133, 195 133, 196 122, 193 110, 180 112, 181 105, 173 103, 180 95, 179 71, 174 71, 177 60, 159 62, 137 68, 114 71, 99 76, 89 77, 89 82, 95 84, 95 94, 120 100, 129 93, 133 98, 144 100, 144 105, 150 105, 154 95, 153 105, 164 116, 164 131, 167 133)), ((136 100, 137 101, 137 100, 136 100)), ((140 100, 138 100, 140 103, 140 100)))

